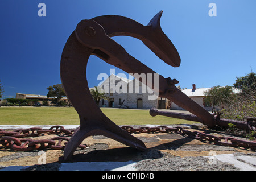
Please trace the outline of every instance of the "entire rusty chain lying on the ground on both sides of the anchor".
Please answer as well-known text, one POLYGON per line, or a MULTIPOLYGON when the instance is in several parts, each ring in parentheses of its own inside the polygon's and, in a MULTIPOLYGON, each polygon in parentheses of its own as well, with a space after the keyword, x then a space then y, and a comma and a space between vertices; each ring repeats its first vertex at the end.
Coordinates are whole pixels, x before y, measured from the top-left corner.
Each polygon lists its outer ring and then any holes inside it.
MULTIPOLYGON (((189 131, 183 127, 139 127, 133 128, 131 126, 122 126, 123 130, 130 134, 139 133, 176 133, 180 135, 187 135, 190 138, 201 140, 202 142, 208 141, 210 143, 220 144, 222 146, 231 147, 244 147, 256 149, 256 141, 241 140, 233 137, 221 137, 216 135, 205 134, 200 131, 189 131)), ((43 150, 51 148, 53 150, 64 150, 65 144, 69 141, 68 137, 53 137, 51 139, 33 140, 31 138, 24 137, 38 137, 39 135, 55 134, 55 135, 67 135, 70 137, 73 134, 73 130, 66 130, 63 126, 52 126, 49 130, 41 129, 40 127, 33 127, 29 129, 5 131, 0 129, 0 144, 6 148, 12 148, 16 151, 32 151, 43 150), (21 138, 21 139, 18 139, 21 138), (64 144, 61 144, 64 143, 64 144)), ((79 148, 86 148, 86 144, 80 144, 79 148)))

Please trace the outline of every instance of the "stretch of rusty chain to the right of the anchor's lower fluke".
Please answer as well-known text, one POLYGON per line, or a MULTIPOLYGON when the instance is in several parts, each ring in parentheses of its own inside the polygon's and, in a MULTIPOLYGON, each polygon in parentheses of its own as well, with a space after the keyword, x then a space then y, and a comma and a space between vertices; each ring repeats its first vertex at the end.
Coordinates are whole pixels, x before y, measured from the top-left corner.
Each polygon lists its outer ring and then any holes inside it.
POLYGON ((123 130, 126 130, 130 134, 138 134, 138 133, 176 133, 180 135, 187 135, 193 139, 201 140, 204 142, 205 140, 210 143, 220 144, 221 146, 231 146, 231 147, 244 147, 244 148, 252 148, 256 149, 256 141, 249 140, 241 140, 233 137, 219 137, 216 135, 205 134, 200 131, 189 131, 185 130, 183 127, 167 127, 167 126, 158 126, 158 127, 139 127, 138 129, 134 129, 131 126, 122 126, 123 130))

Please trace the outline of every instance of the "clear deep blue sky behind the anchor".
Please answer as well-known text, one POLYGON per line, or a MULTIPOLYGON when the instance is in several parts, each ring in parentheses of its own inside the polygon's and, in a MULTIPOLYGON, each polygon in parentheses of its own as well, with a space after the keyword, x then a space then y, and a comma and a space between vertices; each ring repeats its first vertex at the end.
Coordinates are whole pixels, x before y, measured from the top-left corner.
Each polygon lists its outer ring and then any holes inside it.
MULTIPOLYGON (((68 36, 82 19, 122 15, 147 25, 163 10, 160 24, 181 57, 178 68, 154 55, 137 39, 113 38, 130 55, 164 77, 176 78, 181 88, 233 85, 237 76, 256 72, 255 0, 67 1, 24 0, 0 2, 0 80, 3 98, 16 93, 47 94, 60 84, 60 56, 68 36), (38 16, 38 4, 46 4, 46 17, 38 16), (217 16, 210 17, 209 3, 217 16)), ((99 73, 115 68, 91 56, 89 87, 97 86, 99 73)), ((123 73, 115 69, 115 73, 123 73)))

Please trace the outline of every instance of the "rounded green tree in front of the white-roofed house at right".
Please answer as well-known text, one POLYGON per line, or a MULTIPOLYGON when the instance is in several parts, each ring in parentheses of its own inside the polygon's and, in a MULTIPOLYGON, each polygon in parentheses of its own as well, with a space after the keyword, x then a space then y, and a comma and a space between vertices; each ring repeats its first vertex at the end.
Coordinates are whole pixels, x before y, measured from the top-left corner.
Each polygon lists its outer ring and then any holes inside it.
POLYGON ((216 109, 215 106, 221 107, 223 104, 230 100, 230 97, 233 96, 232 86, 221 87, 219 85, 213 86, 209 90, 204 92, 205 101, 209 102, 213 106, 213 109, 216 109))

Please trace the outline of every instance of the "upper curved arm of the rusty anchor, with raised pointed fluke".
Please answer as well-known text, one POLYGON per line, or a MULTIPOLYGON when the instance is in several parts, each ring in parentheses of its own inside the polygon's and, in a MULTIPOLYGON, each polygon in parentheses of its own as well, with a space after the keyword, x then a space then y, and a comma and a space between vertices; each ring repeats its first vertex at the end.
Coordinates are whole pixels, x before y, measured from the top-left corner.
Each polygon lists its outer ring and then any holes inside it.
POLYGON ((159 11, 159 13, 150 20, 147 26, 144 26, 133 19, 118 15, 98 16, 92 18, 92 20, 100 24, 104 28, 106 35, 109 37, 123 35, 137 38, 165 63, 172 67, 179 67, 179 53, 160 27, 160 18, 162 14, 163 11, 159 11))

